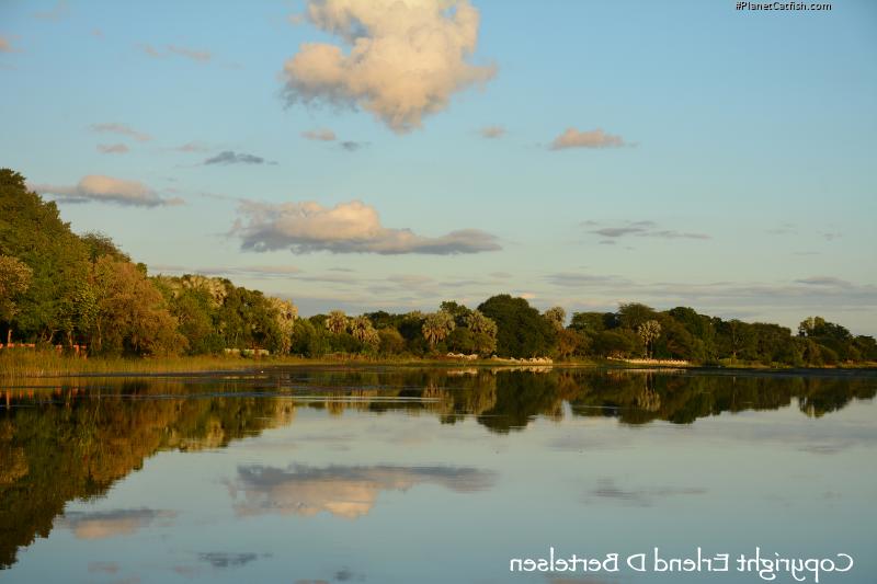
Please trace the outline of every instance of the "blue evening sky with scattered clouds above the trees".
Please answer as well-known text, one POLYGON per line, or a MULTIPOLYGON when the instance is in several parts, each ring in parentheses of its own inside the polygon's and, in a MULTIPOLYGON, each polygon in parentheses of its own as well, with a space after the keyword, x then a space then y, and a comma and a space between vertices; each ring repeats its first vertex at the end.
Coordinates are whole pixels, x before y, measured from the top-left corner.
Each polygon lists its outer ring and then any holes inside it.
POLYGON ((877 333, 877 4, 0 1, 0 165, 152 274, 877 333))

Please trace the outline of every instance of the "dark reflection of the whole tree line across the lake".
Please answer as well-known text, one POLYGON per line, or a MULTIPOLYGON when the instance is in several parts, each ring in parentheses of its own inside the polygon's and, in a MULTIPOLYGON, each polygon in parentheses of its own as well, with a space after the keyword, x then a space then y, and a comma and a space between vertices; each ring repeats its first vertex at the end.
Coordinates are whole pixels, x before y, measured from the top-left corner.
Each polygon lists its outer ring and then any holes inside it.
POLYGON ((726 411, 775 410, 793 400, 818 417, 877 393, 874 378, 472 367, 338 367, 228 379, 65 383, 2 390, 0 404, 25 406, 0 410, 0 566, 14 562, 19 546, 47 536, 68 501, 102 495, 156 451, 224 447, 289 424, 297 406, 333 415, 405 410, 442 423, 475 416, 487 430, 508 433, 536 416, 560 420, 565 404, 578 416, 687 424, 726 411))

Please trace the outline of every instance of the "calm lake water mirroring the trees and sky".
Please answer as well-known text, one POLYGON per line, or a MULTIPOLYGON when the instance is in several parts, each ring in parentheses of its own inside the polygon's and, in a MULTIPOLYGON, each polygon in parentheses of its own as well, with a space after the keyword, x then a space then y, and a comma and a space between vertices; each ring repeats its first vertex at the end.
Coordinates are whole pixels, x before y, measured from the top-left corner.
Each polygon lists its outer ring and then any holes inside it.
POLYGON ((733 560, 756 547, 877 582, 874 374, 53 383, 0 389, 2 582, 755 583, 733 560), (551 547, 619 571, 510 572, 551 547), (729 571, 654 572, 656 547, 729 571))

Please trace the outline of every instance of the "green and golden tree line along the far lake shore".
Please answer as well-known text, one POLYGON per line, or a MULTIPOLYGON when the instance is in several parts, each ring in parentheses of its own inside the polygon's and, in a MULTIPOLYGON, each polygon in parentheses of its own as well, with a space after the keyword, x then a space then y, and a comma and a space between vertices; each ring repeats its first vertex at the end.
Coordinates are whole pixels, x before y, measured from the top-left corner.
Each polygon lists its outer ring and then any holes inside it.
POLYGON ((877 360, 873 336, 810 317, 797 331, 624 304, 612 312, 540 312, 498 295, 477 308, 298 318, 288 300, 202 275, 150 276, 101 233, 77 234, 54 202, 0 170, 0 334, 7 342, 87 345, 93 355, 247 350, 322 357, 550 356, 823 366, 877 360))

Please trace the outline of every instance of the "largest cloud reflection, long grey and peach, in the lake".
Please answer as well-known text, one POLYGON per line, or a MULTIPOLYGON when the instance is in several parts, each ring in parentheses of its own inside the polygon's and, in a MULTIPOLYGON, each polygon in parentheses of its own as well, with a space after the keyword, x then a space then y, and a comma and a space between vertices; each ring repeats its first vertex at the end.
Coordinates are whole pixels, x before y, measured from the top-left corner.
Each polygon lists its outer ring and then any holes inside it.
POLYGON ((324 511, 355 519, 372 511, 380 491, 407 491, 414 484, 428 483, 467 493, 488 489, 493 480, 492 472, 457 467, 295 465, 283 470, 252 466, 238 467, 238 478, 229 488, 239 515, 280 513, 307 517, 324 511))

